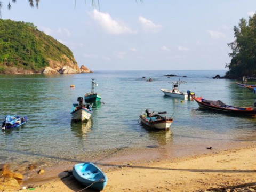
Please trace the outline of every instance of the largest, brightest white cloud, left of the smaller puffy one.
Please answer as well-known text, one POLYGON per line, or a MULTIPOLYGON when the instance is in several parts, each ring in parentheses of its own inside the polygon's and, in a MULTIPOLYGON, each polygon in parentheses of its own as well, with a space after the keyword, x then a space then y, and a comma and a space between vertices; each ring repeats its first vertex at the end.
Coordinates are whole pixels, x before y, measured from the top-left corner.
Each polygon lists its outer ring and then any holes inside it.
POLYGON ((99 25, 107 31, 109 34, 120 35, 120 34, 133 34, 135 31, 131 30, 129 27, 123 23, 118 23, 116 20, 111 18, 108 13, 99 12, 94 9, 89 15, 99 23, 99 25))

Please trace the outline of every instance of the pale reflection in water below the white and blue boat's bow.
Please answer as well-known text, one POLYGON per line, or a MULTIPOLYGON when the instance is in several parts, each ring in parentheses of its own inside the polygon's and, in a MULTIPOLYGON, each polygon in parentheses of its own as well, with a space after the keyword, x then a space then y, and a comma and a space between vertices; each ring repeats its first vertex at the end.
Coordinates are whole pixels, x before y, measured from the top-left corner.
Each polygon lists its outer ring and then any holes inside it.
POLYGON ((90 118, 86 123, 75 122, 71 120, 71 131, 76 137, 85 137, 87 133, 91 132, 92 119, 90 118))

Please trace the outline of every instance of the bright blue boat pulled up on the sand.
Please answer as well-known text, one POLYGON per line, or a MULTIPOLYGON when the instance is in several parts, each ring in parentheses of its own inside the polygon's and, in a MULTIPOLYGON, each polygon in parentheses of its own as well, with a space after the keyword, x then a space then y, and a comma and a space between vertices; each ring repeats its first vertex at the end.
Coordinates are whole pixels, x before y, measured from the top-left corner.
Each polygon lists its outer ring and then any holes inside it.
POLYGON ((107 185, 107 175, 91 162, 74 165, 72 174, 82 185, 95 190, 101 191, 107 185))

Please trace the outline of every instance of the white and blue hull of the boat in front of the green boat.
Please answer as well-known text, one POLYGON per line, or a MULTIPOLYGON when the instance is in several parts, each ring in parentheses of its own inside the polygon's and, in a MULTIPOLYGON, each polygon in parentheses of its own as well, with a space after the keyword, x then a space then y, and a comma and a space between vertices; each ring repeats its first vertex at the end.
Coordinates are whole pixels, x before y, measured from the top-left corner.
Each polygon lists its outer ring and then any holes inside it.
POLYGON ((77 121, 88 121, 92 116, 92 110, 73 104, 71 115, 77 121))

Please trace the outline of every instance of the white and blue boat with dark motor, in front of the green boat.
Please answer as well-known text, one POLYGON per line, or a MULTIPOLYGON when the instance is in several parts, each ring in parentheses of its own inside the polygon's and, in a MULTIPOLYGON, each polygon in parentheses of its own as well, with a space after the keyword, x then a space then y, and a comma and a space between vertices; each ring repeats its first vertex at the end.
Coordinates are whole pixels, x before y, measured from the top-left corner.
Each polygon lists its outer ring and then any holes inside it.
POLYGON ((78 97, 77 101, 71 108, 71 115, 76 121, 88 121, 92 116, 92 105, 84 104, 83 97, 78 97))

